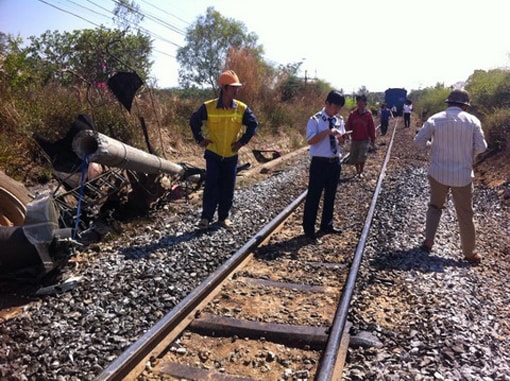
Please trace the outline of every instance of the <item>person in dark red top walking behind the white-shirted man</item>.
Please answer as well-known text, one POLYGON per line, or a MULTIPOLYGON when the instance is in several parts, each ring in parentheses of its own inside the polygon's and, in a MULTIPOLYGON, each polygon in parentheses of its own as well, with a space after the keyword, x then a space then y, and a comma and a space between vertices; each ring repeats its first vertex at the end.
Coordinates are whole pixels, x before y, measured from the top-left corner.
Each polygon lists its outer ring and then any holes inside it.
POLYGON ((349 163, 356 167, 356 175, 363 177, 368 146, 375 149, 375 123, 372 113, 367 109, 367 97, 356 96, 357 107, 352 110, 345 128, 352 131, 349 163))

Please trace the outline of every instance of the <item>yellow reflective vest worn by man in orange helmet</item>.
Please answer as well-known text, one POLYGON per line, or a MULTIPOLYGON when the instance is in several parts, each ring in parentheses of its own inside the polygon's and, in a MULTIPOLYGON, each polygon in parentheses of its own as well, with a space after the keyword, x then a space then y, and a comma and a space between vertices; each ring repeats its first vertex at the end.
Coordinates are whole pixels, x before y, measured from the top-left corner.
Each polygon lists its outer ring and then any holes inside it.
POLYGON ((236 107, 217 108, 217 99, 205 102, 207 120, 203 121, 204 138, 211 141, 207 149, 222 157, 237 155, 232 151, 232 143, 235 143, 244 134, 243 115, 247 105, 234 99, 236 107))

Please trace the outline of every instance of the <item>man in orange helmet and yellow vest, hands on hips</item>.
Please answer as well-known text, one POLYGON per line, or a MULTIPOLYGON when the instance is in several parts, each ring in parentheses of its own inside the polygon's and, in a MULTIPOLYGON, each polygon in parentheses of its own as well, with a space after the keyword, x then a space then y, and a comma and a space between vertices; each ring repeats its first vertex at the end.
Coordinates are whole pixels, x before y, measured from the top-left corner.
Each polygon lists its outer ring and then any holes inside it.
POLYGON ((206 176, 200 229, 209 227, 218 210, 224 228, 233 223, 228 218, 234 200, 239 149, 247 144, 258 128, 252 110, 235 99, 242 84, 232 70, 221 73, 220 95, 203 103, 190 118, 193 138, 205 148, 206 176), (243 126, 246 131, 243 133, 243 126))

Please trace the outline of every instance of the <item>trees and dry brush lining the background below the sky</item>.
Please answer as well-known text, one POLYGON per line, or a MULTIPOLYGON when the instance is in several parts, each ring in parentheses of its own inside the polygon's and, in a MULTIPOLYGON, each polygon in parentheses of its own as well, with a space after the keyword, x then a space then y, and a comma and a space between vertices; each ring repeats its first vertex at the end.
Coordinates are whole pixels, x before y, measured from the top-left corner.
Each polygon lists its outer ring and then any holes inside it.
MULTIPOLYGON (((152 40, 136 28, 142 19, 137 10, 134 1, 118 2, 116 29, 47 31, 27 42, 0 32, 0 168, 19 178, 23 176, 19 160, 44 162, 34 147, 33 133, 61 137, 78 114, 91 115, 100 132, 133 146, 143 146, 141 117, 157 126, 152 129, 155 138, 161 129, 170 135, 188 134, 189 115, 218 94, 217 77, 226 68, 235 70, 245 84, 240 97, 256 111, 261 134, 304 135, 306 118, 331 89, 324 80, 301 77, 302 62, 277 66, 266 62, 257 35, 213 7, 189 26, 185 44, 177 51, 179 87, 159 89, 151 77, 152 40), (108 80, 119 72, 136 73, 142 83, 129 111, 119 106, 108 88, 108 80)), ((510 72, 475 71, 465 88, 489 144, 507 149, 510 72)), ((444 108, 450 90, 437 84, 408 93, 415 113, 425 118, 444 108)), ((384 100, 382 93, 371 94, 365 87, 359 92, 368 95, 374 109, 384 100)), ((353 106, 354 100, 347 97, 345 112, 353 106)), ((304 136, 295 144, 304 144, 304 136)))

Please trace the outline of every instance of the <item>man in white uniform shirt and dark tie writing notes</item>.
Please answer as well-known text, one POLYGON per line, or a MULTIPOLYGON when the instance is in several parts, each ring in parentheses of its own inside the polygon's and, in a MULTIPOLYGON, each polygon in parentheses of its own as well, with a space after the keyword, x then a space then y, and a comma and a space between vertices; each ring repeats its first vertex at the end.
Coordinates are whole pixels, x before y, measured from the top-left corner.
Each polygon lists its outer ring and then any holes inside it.
POLYGON ((320 243, 315 234, 315 222, 321 195, 324 192, 320 231, 340 233, 333 226, 336 190, 340 180, 340 143, 344 142, 344 122, 338 115, 345 104, 344 96, 337 90, 328 93, 321 111, 308 119, 306 141, 310 145, 311 163, 303 213, 303 230, 311 243, 320 243))

